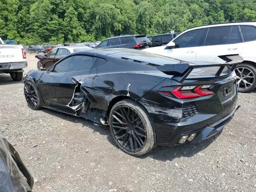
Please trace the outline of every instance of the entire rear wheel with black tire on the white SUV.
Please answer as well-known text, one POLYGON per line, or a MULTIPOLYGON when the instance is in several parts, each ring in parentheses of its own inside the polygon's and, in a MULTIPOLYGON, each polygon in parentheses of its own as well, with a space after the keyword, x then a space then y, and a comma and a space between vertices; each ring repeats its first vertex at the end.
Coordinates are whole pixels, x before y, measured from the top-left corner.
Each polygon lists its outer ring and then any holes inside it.
POLYGON ((238 92, 249 92, 256 88, 256 68, 248 63, 238 64, 234 70, 238 92))

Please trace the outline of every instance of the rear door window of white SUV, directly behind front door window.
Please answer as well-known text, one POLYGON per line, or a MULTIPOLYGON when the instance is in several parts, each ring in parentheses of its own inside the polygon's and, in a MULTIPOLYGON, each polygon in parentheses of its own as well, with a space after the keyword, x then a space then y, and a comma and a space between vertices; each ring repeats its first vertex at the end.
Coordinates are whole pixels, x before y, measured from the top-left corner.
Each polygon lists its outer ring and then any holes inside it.
POLYGON ((204 45, 227 44, 231 26, 209 28, 204 45))

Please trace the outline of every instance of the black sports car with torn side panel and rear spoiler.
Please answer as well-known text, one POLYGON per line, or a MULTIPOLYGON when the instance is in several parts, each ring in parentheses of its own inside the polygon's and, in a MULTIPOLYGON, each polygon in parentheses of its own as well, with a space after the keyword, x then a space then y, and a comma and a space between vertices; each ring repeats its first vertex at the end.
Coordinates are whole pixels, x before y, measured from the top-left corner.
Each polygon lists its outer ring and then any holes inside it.
POLYGON ((220 132, 238 109, 234 66, 183 62, 131 49, 97 49, 24 76, 28 106, 109 125, 118 146, 142 155, 155 144, 198 143, 220 132))

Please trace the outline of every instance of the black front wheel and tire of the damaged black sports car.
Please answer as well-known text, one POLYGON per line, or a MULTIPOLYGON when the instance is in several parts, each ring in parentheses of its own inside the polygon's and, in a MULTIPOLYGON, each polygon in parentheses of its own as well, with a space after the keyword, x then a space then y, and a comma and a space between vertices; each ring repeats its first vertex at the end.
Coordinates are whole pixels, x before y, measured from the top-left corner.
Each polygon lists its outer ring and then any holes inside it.
POLYGON ((31 81, 24 82, 24 95, 30 109, 40 110, 42 108, 38 90, 31 81))

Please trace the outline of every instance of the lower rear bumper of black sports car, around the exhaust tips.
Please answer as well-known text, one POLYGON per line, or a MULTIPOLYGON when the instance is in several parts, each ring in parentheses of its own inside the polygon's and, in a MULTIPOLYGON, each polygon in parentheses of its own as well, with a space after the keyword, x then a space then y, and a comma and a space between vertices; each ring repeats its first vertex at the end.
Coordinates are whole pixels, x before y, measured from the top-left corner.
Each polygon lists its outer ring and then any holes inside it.
POLYGON ((156 143, 159 145, 175 146, 179 145, 181 136, 196 133, 192 141, 184 143, 200 143, 203 140, 214 136, 233 118, 234 113, 240 105, 236 102, 224 109, 219 114, 197 114, 189 118, 186 122, 154 124, 156 131, 156 143), (204 119, 204 120, 202 120, 204 119))

